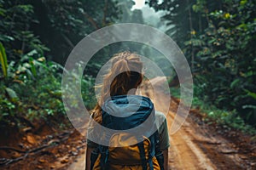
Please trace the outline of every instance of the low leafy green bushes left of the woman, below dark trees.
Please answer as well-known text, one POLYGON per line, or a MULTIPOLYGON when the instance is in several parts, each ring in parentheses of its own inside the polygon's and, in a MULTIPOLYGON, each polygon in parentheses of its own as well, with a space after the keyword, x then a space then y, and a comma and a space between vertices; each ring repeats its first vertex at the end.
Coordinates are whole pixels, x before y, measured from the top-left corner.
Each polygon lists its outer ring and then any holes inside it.
MULTIPOLYGON (((36 54, 36 53, 35 53, 36 54)), ((69 127, 61 95, 63 68, 44 57, 23 56, 9 65, 9 76, 0 82, 0 128, 32 126, 44 120, 49 125, 69 127)), ((83 77, 82 95, 88 108, 95 104, 90 77, 83 77)))

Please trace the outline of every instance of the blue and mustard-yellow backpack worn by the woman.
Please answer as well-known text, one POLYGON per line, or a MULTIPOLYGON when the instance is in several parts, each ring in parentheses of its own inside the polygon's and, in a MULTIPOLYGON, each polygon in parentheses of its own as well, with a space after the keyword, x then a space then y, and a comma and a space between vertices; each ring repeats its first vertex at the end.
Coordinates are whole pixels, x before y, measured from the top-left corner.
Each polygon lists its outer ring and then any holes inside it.
POLYGON ((102 135, 105 137, 104 140, 108 141, 108 146, 99 144, 92 151, 91 170, 164 169, 159 133, 154 123, 154 105, 150 99, 137 95, 112 96, 102 105, 102 126, 122 131, 102 135), (134 112, 136 105, 139 106, 134 112), (129 106, 132 107, 132 111, 129 106), (113 111, 126 116, 116 116, 113 111), (148 122, 145 121, 147 119, 148 122), (137 133, 137 126, 146 133, 137 133), (130 132, 126 131, 127 129, 135 130, 130 132))

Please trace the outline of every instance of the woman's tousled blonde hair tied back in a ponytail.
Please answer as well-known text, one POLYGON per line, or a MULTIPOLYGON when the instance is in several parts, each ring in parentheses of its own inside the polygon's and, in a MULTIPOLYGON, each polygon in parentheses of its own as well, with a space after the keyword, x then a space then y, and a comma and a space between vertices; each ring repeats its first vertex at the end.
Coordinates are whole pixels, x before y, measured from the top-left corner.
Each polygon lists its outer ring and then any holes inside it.
POLYGON ((129 51, 114 54, 112 67, 103 78, 101 96, 96 107, 91 111, 96 122, 102 123, 102 107, 109 96, 128 94, 131 88, 137 88, 143 81, 143 63, 139 55, 129 51))

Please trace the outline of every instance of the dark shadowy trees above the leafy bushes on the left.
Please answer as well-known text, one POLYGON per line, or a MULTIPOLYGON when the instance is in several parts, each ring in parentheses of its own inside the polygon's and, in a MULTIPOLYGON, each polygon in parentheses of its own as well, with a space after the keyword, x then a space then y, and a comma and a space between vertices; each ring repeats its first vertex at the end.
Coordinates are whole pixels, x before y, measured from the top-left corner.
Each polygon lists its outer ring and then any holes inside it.
POLYGON ((9 56, 19 59, 37 49, 61 64, 84 36, 119 17, 113 0, 1 0, 0 8, 0 38, 9 41, 4 44, 9 56))

